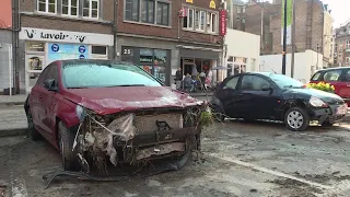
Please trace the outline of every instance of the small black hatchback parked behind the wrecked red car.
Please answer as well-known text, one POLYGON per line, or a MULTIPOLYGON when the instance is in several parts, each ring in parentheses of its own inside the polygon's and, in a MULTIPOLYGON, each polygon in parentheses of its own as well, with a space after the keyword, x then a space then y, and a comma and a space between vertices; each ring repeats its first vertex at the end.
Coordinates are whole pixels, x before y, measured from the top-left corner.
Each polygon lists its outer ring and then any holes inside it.
POLYGON ((305 130, 311 120, 332 125, 341 120, 348 106, 332 93, 307 89, 283 74, 248 72, 226 78, 210 101, 220 119, 282 120, 290 130, 305 130))

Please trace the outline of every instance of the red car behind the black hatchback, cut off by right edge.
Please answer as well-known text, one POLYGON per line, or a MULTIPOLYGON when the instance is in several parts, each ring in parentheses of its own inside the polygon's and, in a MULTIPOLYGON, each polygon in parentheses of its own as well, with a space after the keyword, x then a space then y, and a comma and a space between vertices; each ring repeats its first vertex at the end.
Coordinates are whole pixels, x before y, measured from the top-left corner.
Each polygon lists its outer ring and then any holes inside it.
POLYGON ((317 71, 310 83, 326 82, 335 86, 335 93, 350 106, 350 67, 329 68, 317 71))

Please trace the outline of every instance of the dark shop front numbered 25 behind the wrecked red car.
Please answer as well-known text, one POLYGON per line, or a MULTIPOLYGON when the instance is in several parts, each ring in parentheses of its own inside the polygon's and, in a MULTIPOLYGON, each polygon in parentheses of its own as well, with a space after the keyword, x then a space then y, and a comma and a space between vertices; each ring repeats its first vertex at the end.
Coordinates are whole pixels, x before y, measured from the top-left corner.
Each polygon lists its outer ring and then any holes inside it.
POLYGON ((139 65, 145 71, 168 84, 171 50, 121 46, 121 61, 139 65))

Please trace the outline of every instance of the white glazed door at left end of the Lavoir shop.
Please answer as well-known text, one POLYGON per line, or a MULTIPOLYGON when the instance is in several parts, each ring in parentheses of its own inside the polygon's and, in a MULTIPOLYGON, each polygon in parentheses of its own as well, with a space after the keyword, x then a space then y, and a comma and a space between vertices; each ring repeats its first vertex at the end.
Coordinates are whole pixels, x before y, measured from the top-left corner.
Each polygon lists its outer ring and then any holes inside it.
POLYGON ((45 56, 26 55, 25 56, 25 90, 31 92, 36 84, 45 66, 45 56))

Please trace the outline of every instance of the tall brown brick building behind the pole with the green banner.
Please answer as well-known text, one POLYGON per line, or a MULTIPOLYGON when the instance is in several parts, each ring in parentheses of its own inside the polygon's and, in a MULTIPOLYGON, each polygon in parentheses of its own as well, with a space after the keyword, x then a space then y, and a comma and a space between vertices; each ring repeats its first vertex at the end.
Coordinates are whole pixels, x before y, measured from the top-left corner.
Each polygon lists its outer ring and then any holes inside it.
MULTIPOLYGON (((253 3, 246 8, 245 30, 253 34, 262 34, 262 55, 282 53, 281 2, 276 0, 273 3, 253 3)), ((332 18, 327 5, 319 0, 296 0, 295 11, 296 51, 312 49, 324 55, 325 63, 331 62, 332 18)), ((291 53, 291 46, 288 46, 288 53, 291 53)))

